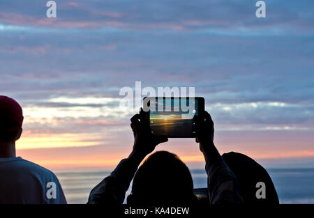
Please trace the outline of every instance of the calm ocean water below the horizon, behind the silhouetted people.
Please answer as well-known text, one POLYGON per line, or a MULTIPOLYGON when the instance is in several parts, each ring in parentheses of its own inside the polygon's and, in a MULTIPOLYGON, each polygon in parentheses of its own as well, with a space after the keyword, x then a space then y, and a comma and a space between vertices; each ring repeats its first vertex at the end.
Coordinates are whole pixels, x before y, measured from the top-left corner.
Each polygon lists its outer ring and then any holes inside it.
MULTIPOLYGON (((267 169, 281 203, 314 203, 314 169, 267 169)), ((204 169, 191 170, 195 188, 207 187, 204 169)), ((68 203, 87 203, 89 192, 109 171, 56 173, 68 203)), ((130 185, 131 186, 131 185, 130 185)), ((126 195, 130 194, 130 189, 126 195)))

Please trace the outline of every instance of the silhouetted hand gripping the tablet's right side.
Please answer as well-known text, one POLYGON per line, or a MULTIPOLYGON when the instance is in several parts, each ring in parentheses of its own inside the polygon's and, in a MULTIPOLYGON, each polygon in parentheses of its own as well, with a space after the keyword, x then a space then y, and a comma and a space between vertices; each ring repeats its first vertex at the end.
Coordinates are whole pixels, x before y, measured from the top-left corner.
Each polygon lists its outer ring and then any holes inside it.
MULTIPOLYGON (((196 142, 200 143, 200 150, 205 155, 209 146, 214 146, 214 122, 207 111, 200 116, 194 116, 196 142)), ((206 157, 205 157, 206 159, 206 157)))

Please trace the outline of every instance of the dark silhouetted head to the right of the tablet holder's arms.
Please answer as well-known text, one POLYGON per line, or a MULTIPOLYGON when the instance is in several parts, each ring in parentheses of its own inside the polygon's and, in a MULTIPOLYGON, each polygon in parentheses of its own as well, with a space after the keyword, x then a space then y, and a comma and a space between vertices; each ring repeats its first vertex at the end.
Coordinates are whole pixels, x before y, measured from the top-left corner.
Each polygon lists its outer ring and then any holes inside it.
POLYGON ((240 192, 245 204, 276 205, 279 203, 271 177, 266 169, 255 162, 254 159, 235 152, 223 154, 223 159, 239 181, 240 192), (266 198, 256 197, 257 182, 264 182, 266 198))

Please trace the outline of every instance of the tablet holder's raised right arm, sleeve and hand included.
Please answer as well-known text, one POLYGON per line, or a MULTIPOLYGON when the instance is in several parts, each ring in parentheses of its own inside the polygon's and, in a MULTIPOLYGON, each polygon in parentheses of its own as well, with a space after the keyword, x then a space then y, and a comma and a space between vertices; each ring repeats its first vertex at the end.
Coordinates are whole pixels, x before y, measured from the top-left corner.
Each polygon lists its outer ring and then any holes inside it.
POLYGON ((205 111, 204 116, 195 116, 196 141, 206 162, 209 203, 239 204, 242 201, 239 184, 234 173, 223 161, 214 145, 214 122, 205 111))

